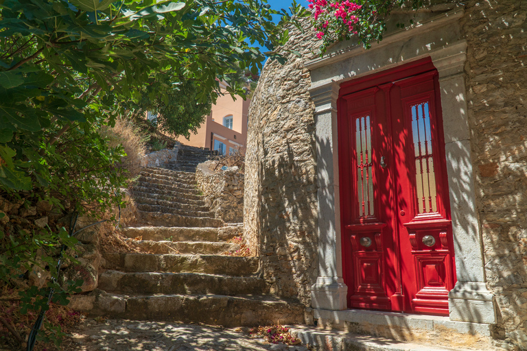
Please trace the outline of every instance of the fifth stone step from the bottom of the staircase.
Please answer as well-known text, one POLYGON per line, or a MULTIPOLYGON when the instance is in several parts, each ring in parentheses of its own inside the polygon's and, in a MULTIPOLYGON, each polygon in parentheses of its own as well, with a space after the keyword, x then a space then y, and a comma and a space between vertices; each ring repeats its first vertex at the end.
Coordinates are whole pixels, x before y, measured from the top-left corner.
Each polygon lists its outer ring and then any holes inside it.
POLYGON ((243 226, 225 226, 221 228, 181 228, 181 227, 138 227, 124 228, 122 233, 128 238, 141 237, 150 241, 227 241, 240 237, 243 226))

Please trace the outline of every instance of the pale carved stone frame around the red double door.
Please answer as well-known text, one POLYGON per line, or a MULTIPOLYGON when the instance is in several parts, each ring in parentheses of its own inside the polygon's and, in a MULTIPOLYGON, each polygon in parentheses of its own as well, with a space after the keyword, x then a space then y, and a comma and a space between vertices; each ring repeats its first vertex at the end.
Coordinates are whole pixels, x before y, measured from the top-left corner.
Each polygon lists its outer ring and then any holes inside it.
POLYGON ((481 228, 471 158, 471 133, 465 100, 467 42, 460 34, 462 8, 386 36, 367 51, 351 47, 307 62, 310 94, 316 106, 319 276, 312 306, 347 309, 342 279, 338 180, 337 99, 340 84, 403 63, 430 57, 439 74, 445 154, 456 255, 456 286, 449 293, 449 318, 495 324, 493 295, 485 285, 481 228), (393 53, 397 53, 394 55, 393 53))

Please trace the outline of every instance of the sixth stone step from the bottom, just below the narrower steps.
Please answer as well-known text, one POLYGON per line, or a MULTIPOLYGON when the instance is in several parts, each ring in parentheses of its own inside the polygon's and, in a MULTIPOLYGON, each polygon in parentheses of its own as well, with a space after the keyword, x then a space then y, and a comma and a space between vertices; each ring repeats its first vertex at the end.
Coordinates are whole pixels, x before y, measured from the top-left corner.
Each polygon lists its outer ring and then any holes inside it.
POLYGON ((221 227, 221 219, 209 217, 189 217, 172 215, 172 213, 137 211, 137 221, 142 226, 164 226, 164 227, 221 227))

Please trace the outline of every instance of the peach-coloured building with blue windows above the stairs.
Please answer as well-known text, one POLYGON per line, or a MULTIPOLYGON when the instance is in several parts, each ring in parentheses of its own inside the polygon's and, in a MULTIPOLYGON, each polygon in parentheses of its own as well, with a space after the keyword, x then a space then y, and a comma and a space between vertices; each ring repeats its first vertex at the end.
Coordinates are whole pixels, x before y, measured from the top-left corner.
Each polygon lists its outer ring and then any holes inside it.
POLYGON ((245 148, 250 99, 237 97, 234 100, 226 93, 224 82, 220 82, 220 88, 225 95, 218 97, 211 114, 198 128, 198 133, 191 134, 189 140, 185 136, 179 136, 177 140, 180 143, 218 150, 224 155, 245 148))

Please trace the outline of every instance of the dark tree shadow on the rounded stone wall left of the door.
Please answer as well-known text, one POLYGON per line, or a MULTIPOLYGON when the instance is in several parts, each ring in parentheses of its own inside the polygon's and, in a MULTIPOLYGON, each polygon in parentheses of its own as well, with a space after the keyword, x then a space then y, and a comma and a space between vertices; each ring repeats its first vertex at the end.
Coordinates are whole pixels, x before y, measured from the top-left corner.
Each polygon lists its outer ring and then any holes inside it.
POLYGON ((264 147, 259 162, 261 264, 271 293, 310 306, 318 275, 316 185, 308 169, 314 166, 296 159, 285 143, 285 152, 274 158, 264 147))

